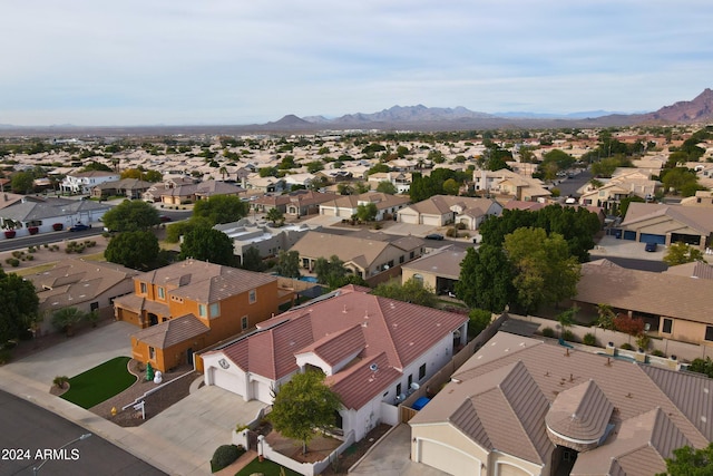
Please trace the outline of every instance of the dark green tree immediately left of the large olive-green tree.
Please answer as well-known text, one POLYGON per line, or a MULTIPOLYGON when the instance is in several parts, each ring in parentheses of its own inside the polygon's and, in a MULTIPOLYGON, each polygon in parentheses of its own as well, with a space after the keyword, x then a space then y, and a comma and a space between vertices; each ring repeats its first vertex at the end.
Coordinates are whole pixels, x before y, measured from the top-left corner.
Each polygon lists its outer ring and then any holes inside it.
POLYGON ((500 246, 470 247, 460 263, 456 295, 471 308, 502 312, 517 301, 514 276, 512 265, 500 246))

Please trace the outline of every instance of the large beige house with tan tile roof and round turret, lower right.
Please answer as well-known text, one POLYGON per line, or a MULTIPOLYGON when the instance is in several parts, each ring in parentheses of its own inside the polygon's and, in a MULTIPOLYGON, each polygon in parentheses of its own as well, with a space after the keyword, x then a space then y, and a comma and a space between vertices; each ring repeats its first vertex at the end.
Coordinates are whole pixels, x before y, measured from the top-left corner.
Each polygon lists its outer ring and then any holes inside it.
POLYGON ((713 380, 498 332, 410 421, 411 459, 460 475, 653 475, 713 439, 713 380))

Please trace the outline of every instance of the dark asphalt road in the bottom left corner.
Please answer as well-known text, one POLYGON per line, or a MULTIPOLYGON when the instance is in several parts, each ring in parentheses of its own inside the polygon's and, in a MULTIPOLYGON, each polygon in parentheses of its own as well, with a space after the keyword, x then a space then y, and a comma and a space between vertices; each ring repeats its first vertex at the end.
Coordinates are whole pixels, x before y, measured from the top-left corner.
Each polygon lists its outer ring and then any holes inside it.
MULTIPOLYGON (((87 434, 84 428, 13 395, 0 391, 0 476, 32 475, 46 449, 87 434), (41 453, 38 454, 38 450, 41 453)), ((56 454, 66 459, 50 459, 38 474, 52 476, 84 475, 164 475, 147 463, 92 435, 56 454)), ((51 453, 51 451, 50 451, 51 453)))

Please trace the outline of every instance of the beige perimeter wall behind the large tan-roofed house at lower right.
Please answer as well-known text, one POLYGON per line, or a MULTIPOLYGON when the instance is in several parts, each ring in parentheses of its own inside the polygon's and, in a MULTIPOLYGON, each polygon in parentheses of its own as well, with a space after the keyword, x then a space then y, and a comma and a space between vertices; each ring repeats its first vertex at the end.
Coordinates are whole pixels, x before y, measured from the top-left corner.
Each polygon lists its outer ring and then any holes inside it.
MULTIPOLYGON (((556 334, 558 332, 559 323, 545 318, 537 318, 535 315, 515 315, 510 314, 510 319, 517 319, 527 322, 534 322, 539 324, 537 332, 541 332, 545 328, 551 328, 556 334)), ((599 329, 597 327, 586 326, 572 326, 567 328, 579 342, 584 339, 585 334, 593 333, 597 339, 597 346, 605 348, 608 342, 613 342, 614 347, 622 347, 624 343, 631 343, 636 347, 636 339, 627 333, 618 331, 609 331, 606 329, 599 329)), ((713 348, 707 346, 696 346, 693 343, 681 342, 672 339, 657 339, 652 337, 651 344, 646 350, 647 353, 654 350, 661 350, 666 356, 676 356, 678 360, 691 361, 697 358, 713 357, 713 348)))

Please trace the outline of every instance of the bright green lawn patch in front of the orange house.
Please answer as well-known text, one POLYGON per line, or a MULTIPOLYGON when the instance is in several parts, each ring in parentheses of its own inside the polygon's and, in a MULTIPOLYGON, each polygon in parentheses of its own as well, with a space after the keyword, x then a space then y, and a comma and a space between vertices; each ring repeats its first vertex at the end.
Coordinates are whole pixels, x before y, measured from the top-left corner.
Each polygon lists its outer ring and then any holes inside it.
POLYGON ((128 357, 117 357, 70 378, 69 390, 61 398, 81 408, 91 408, 120 394, 136 381, 136 377, 126 369, 129 360, 128 357))

